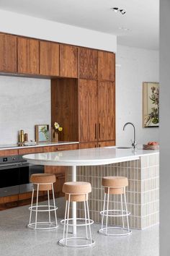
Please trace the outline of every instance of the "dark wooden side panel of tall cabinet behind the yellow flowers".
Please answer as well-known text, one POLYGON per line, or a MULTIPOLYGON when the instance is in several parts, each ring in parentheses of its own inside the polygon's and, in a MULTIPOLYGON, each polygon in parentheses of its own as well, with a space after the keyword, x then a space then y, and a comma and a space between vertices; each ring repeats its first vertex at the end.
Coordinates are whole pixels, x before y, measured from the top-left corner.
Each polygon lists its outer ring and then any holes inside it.
POLYGON ((79 141, 78 81, 60 78, 51 81, 51 125, 63 127, 61 141, 79 141))

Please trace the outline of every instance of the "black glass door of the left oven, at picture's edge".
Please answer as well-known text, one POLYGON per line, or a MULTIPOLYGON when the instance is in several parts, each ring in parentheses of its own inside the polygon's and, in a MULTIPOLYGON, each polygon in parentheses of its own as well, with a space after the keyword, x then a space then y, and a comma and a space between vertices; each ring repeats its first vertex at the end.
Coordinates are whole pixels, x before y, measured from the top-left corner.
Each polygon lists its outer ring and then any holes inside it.
POLYGON ((19 193, 19 164, 0 166, 0 197, 19 193))

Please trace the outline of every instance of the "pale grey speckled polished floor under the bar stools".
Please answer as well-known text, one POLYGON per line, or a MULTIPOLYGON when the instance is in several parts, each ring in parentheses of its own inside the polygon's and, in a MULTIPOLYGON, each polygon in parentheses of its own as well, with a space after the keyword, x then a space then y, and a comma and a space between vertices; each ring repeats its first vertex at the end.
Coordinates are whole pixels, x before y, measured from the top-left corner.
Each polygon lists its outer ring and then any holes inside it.
MULTIPOLYGON (((58 216, 61 216, 62 198, 58 199, 58 208, 58 216)), ((29 214, 27 206, 0 211, 1 256, 158 256, 158 226, 143 231, 133 230, 130 236, 111 237, 97 234, 99 225, 94 224, 92 236, 96 243, 93 247, 66 248, 58 245, 63 226, 51 231, 27 229, 29 214)))

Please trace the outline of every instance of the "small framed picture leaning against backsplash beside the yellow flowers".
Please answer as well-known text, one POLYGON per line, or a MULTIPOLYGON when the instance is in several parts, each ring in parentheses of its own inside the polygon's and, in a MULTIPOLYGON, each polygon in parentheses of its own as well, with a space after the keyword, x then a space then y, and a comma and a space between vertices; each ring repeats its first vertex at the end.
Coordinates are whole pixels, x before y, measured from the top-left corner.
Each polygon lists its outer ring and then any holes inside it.
POLYGON ((35 125, 35 140, 36 142, 49 141, 49 124, 35 125))

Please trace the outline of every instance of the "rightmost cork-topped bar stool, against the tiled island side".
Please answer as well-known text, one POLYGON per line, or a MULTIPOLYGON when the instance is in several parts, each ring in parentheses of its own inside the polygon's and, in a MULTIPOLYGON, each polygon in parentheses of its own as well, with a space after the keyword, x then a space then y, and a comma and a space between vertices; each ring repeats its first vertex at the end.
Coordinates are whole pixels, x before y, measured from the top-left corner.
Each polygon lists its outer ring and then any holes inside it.
POLYGON ((104 186, 104 205, 103 210, 100 212, 102 215, 102 228, 99 229, 99 234, 104 234, 106 236, 126 236, 131 233, 129 229, 128 216, 130 213, 127 209, 125 187, 128 186, 128 179, 123 176, 107 176, 102 178, 102 186, 104 186), (107 209, 106 205, 106 195, 107 195, 107 209), (121 210, 109 210, 109 195, 120 195, 121 198, 121 210), (125 200, 125 210, 123 210, 122 195, 124 195, 125 200), (104 217, 106 217, 106 224, 104 227, 104 217), (108 217, 122 217, 122 226, 109 226, 108 227, 108 217), (125 220, 127 221, 127 228, 125 228, 125 220))

